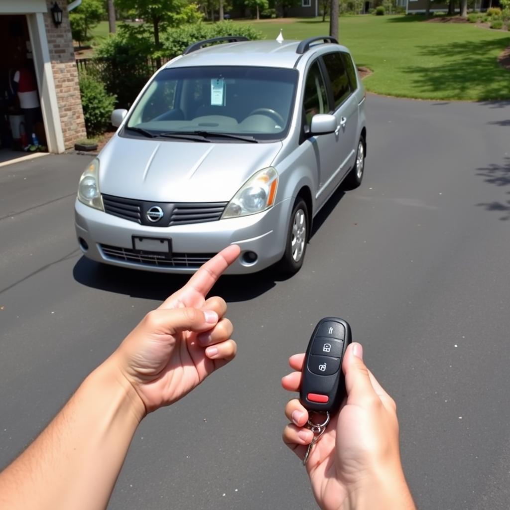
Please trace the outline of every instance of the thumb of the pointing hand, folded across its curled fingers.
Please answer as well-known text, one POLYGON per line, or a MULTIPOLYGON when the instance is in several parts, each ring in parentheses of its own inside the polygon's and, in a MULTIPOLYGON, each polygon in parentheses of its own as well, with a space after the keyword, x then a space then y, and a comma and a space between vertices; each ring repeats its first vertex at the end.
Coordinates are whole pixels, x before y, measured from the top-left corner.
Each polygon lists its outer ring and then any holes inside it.
POLYGON ((145 317, 146 327, 151 333, 175 335, 181 331, 207 331, 218 322, 218 314, 213 310, 196 308, 157 309, 145 317))

